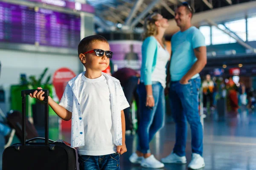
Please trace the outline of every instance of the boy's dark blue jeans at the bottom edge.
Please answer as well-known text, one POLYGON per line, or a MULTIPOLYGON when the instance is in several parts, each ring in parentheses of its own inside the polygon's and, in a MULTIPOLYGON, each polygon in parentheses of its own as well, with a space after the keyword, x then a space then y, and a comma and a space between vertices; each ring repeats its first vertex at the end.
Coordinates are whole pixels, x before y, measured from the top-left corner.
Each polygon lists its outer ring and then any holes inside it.
POLYGON ((78 155, 80 170, 120 170, 119 153, 102 156, 78 155))

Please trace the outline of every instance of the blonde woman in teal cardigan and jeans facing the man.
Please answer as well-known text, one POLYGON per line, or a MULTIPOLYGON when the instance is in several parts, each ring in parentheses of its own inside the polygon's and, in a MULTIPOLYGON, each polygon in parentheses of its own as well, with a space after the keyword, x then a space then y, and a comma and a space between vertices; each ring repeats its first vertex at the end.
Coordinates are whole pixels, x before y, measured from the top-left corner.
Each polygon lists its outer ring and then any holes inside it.
POLYGON ((166 64, 170 54, 163 35, 168 26, 168 20, 158 13, 145 19, 141 78, 137 88, 140 99, 139 146, 129 158, 132 163, 140 163, 143 167, 164 167, 150 153, 149 142, 164 125, 166 64))

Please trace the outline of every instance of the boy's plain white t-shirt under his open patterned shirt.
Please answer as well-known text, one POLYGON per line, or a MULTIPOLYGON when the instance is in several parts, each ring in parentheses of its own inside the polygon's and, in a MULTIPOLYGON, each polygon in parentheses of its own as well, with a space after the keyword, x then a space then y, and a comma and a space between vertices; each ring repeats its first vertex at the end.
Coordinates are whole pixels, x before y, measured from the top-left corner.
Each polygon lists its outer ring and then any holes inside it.
MULTIPOLYGON (((79 103, 84 120, 84 146, 80 155, 101 156, 116 153, 111 114, 111 98, 107 79, 101 76, 80 81, 79 103)), ((121 114, 121 113, 120 113, 121 114)))

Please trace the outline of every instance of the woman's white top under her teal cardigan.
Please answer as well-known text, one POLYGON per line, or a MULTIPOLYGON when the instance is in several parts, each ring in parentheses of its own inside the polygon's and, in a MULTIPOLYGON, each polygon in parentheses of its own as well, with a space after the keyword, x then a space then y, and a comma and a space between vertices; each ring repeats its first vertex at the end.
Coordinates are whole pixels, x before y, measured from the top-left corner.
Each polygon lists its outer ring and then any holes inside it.
POLYGON ((166 88, 166 64, 170 53, 157 41, 157 62, 152 73, 152 82, 160 82, 166 88))

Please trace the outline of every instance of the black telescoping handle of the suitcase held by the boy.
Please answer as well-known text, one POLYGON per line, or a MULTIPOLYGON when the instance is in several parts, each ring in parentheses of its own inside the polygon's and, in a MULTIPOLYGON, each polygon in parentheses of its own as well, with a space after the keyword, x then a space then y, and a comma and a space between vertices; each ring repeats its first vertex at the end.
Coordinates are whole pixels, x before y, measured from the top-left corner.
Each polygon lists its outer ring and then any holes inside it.
MULTIPOLYGON (((22 137, 21 143, 22 145, 26 145, 26 95, 33 94, 34 91, 40 91, 40 89, 33 89, 33 90, 23 90, 21 91, 22 97, 22 137)), ((44 120, 44 130, 45 130, 45 144, 49 144, 49 104, 48 104, 48 96, 49 90, 42 90, 44 91, 44 109, 45 109, 45 120, 44 120)))

